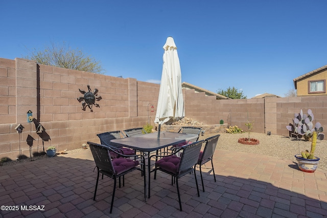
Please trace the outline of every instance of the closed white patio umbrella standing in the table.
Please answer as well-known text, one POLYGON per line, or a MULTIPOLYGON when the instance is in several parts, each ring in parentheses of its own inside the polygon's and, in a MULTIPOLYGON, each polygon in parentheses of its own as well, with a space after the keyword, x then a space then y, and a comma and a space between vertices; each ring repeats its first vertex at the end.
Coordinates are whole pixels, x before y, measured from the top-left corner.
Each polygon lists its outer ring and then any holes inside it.
POLYGON ((157 112, 154 119, 154 123, 159 124, 158 136, 161 124, 173 122, 184 117, 185 114, 179 58, 172 37, 167 38, 164 50, 157 112))

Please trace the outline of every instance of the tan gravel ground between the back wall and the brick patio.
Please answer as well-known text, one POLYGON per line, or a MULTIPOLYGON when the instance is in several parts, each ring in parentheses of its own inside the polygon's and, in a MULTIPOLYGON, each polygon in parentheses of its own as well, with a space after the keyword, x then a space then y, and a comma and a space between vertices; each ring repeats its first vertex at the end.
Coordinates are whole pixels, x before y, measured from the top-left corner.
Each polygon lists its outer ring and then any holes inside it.
MULTIPOLYGON (((255 138, 260 141, 257 146, 249 146, 246 144, 238 143, 239 138, 248 137, 248 133, 230 134, 230 133, 218 133, 220 134, 218 140, 218 150, 238 151, 254 154, 263 154, 280 159, 295 160, 294 155, 300 154, 300 151, 311 149, 310 141, 303 141, 288 136, 281 135, 267 135, 264 133, 250 133, 250 138, 255 138)), ((200 136, 199 140, 208 138, 216 134, 205 134, 200 136)), ((317 140, 315 156, 320 158, 318 168, 327 171, 327 140, 317 140)))

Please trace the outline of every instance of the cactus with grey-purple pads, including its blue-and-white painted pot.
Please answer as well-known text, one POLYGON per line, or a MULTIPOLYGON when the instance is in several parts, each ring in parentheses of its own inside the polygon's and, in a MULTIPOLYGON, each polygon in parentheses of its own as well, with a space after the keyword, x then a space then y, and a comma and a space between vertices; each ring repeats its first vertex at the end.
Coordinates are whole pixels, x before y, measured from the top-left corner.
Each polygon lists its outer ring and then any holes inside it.
POLYGON ((323 140, 324 134, 323 127, 319 122, 313 125, 312 121, 314 119, 311 109, 308 110, 308 115, 303 114, 302 109, 300 113, 294 114, 293 125, 290 124, 286 128, 291 132, 291 134, 296 135, 297 140, 303 136, 305 141, 311 141, 311 150, 302 151, 301 154, 295 155, 297 160, 297 165, 300 171, 313 173, 317 169, 317 164, 319 163, 319 157, 314 155, 316 150, 317 139, 323 140))

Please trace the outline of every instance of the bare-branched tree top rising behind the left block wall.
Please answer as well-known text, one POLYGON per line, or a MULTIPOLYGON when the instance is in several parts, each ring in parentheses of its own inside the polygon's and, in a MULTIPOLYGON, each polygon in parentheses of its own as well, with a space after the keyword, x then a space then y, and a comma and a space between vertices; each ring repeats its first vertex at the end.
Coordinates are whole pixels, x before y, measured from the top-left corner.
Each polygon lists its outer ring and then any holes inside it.
POLYGON ((105 70, 102 68, 100 61, 96 61, 89 55, 84 54, 78 48, 72 49, 71 46, 62 44, 46 44, 44 50, 29 50, 28 55, 24 58, 35 60, 38 64, 57 66, 67 69, 76 69, 87 72, 95 72, 97 74, 104 74, 105 70))

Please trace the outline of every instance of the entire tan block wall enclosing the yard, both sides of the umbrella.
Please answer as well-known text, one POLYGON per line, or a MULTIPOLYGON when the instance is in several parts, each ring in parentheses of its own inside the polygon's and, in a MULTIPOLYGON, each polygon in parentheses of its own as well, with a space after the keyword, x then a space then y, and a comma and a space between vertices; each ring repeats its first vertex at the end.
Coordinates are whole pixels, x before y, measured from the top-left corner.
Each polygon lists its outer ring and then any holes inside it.
MULTIPOLYGON (((50 146, 57 152, 81 148, 87 141, 99 143, 98 133, 142 127, 149 120, 154 126, 158 93, 159 84, 133 78, 0 58, 0 159, 30 157, 50 146), (93 112, 88 107, 83 111, 77 100, 83 96, 79 89, 88 91, 87 85, 91 91, 97 88, 102 98, 96 102, 100 107, 92 107, 93 112), (33 112, 31 123, 29 110, 33 112), (24 126, 22 133, 16 132, 18 124, 24 126), (36 132, 39 125, 42 133, 36 132)), ((224 126, 245 130, 249 119, 254 122, 253 132, 288 136, 286 126, 292 123, 293 114, 312 109, 315 120, 327 128, 327 96, 216 100, 183 89, 183 97, 185 116, 202 122, 203 127, 223 119, 224 126)))

